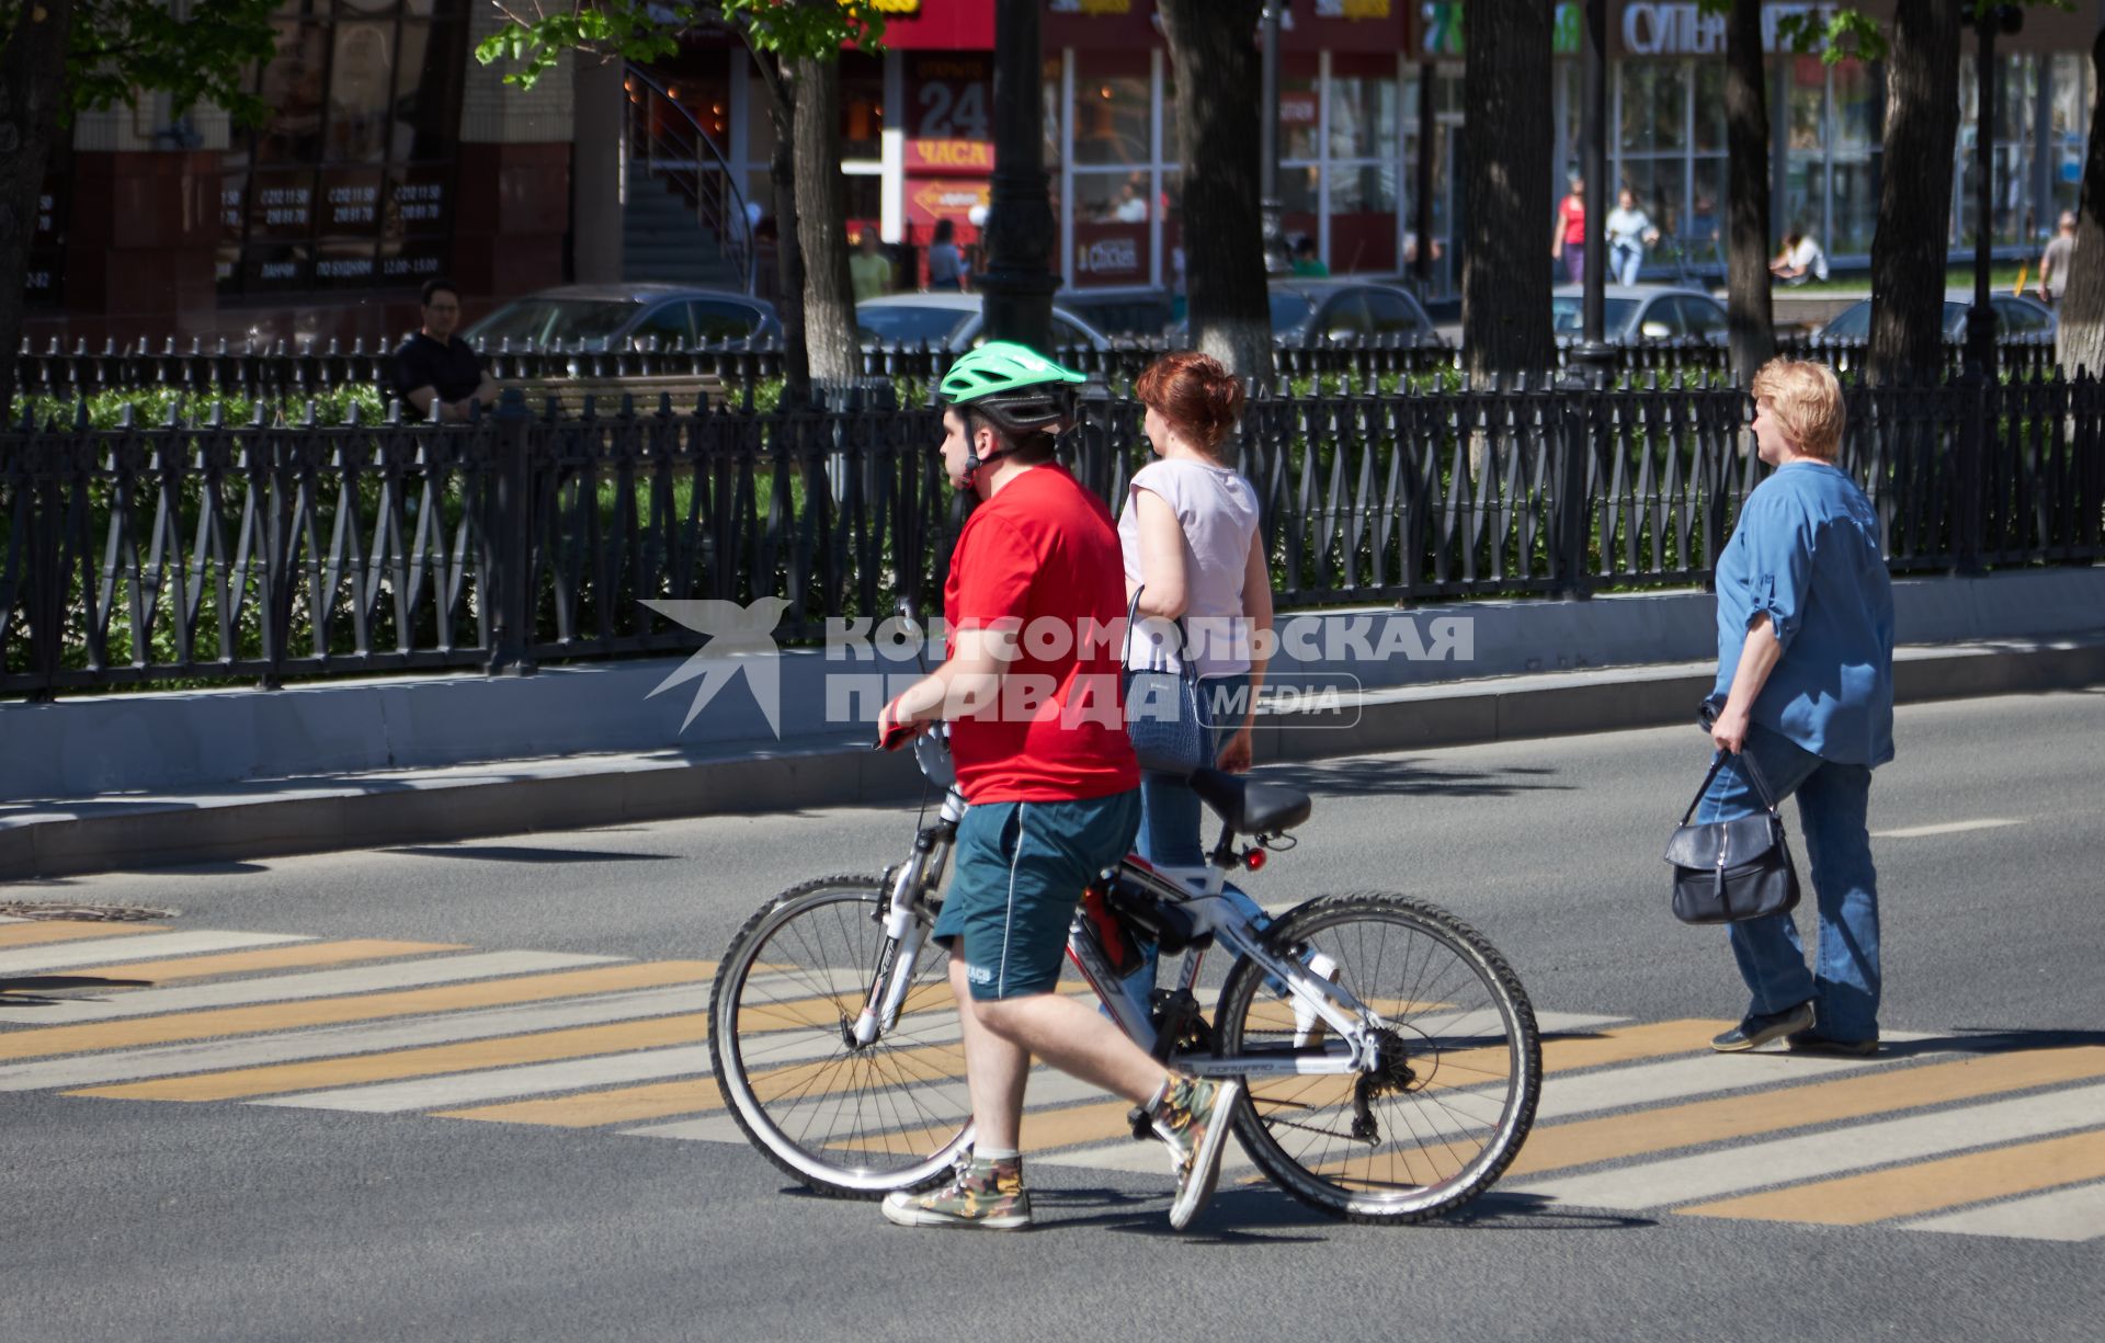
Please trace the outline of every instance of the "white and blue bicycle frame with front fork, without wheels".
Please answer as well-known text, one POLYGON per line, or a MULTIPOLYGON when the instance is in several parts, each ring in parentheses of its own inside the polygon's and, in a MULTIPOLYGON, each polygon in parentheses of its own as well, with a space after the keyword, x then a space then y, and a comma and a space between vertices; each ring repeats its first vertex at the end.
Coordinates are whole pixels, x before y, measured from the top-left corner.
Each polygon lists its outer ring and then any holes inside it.
MULTIPOLYGON (((964 796, 949 787, 933 825, 914 836, 914 855, 886 874, 890 901, 882 911, 884 949, 878 956, 863 998, 863 1010, 853 1025, 857 1046, 874 1044, 899 1021, 914 981, 914 966, 922 945, 935 924, 928 907, 949 871, 949 853, 958 840, 958 823, 964 819, 964 796)), ((1223 825, 1221 842, 1215 846, 1204 871, 1160 869, 1137 855, 1128 855, 1111 869, 1107 880, 1137 886, 1147 897, 1166 905, 1179 905, 1194 922, 1194 937, 1200 939, 1191 954, 1183 958, 1179 989, 1191 994, 1204 962, 1204 937, 1225 945, 1236 956, 1246 956, 1265 970, 1271 983, 1286 987, 1286 994, 1320 1019, 1328 1034, 1320 1053, 1297 1048, 1282 1055, 1236 1055, 1215 1059, 1210 1055, 1177 1053, 1164 1061, 1196 1076, 1326 1076, 1372 1071, 1377 1067, 1381 1015, 1360 1002, 1343 985, 1309 973, 1299 960, 1282 960, 1263 947, 1261 930, 1244 918, 1227 899, 1227 871, 1236 865, 1234 836, 1223 825), (1181 871, 1185 876, 1181 876, 1181 871)), ((1118 970, 1103 947, 1103 939, 1086 916, 1076 911, 1067 930, 1067 958, 1082 973, 1090 991, 1103 1002, 1111 1021, 1141 1048, 1156 1046, 1154 1025, 1141 1017, 1118 983, 1118 970)))

